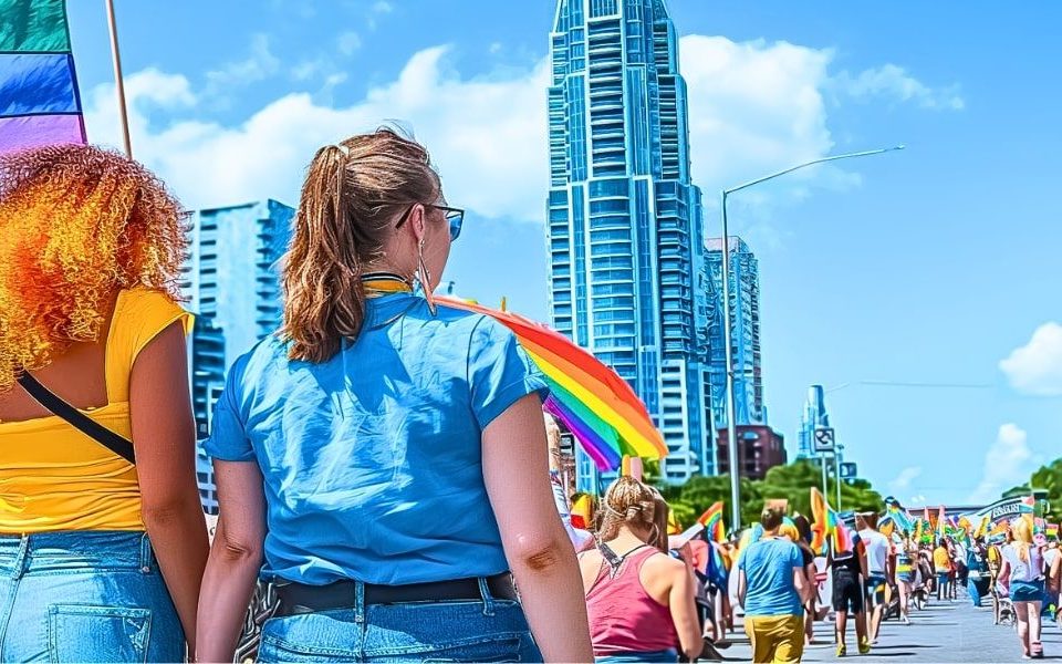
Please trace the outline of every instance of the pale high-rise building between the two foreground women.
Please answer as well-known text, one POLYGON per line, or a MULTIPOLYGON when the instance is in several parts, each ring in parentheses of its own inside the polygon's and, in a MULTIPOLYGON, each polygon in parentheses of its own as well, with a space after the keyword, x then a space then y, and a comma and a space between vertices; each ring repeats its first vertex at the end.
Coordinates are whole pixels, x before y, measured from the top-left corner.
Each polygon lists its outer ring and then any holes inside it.
MULTIPOLYGON (((280 324, 278 261, 291 237, 294 210, 275 200, 199 210, 181 290, 196 313, 191 334, 191 396, 200 438, 232 362, 280 324)), ((217 512, 214 471, 201 449, 196 464, 204 508, 217 512)))

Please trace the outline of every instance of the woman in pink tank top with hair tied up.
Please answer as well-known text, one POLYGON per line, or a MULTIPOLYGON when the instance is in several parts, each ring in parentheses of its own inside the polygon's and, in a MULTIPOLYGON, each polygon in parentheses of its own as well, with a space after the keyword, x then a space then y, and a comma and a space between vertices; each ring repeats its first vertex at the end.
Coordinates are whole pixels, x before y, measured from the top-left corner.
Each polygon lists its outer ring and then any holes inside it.
POLYGON ((652 488, 621 477, 602 500, 598 543, 580 556, 596 662, 677 662, 704 642, 686 564, 659 547, 667 504, 652 488), (660 518, 663 516, 663 519, 660 518))

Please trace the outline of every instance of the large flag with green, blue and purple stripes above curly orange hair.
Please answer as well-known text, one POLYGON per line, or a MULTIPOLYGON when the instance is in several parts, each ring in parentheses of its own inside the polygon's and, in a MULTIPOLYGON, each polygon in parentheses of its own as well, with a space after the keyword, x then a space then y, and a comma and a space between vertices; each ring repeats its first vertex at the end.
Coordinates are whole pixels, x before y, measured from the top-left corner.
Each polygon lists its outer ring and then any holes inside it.
POLYGON ((65 0, 0 0, 0 153, 85 143, 65 0))

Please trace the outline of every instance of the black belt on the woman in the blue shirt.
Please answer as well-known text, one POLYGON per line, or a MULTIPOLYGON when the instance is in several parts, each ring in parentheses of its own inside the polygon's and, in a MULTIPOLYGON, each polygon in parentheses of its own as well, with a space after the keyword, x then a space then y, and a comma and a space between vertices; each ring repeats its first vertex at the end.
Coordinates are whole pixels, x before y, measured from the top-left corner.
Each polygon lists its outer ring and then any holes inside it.
MULTIPOLYGON (((508 572, 487 577, 487 590, 496 600, 516 600, 517 590, 508 572)), ((280 608, 277 615, 316 613, 335 609, 353 609, 357 584, 354 581, 334 581, 326 585, 283 583, 277 585, 280 608)), ((365 584, 365 604, 403 604, 407 602, 452 602, 481 600, 479 579, 455 579, 407 585, 365 584)))

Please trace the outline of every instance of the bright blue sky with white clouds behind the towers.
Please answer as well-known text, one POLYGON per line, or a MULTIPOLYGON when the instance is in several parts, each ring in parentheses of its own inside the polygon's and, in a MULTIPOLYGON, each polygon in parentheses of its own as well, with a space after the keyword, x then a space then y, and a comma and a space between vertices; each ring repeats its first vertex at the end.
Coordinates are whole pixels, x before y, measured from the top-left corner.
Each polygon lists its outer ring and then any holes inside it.
MULTIPOLYGON (((106 20, 70 6, 90 138, 115 143, 106 20)), ((447 278, 545 317, 552 0, 116 6, 134 151, 187 205, 294 205, 319 144, 399 121, 470 210, 447 278)), ((720 187, 907 145, 730 204, 760 259, 767 403, 790 450, 821 383, 841 386, 827 406, 861 475, 905 501, 991 499, 1058 456, 1062 7, 668 7, 709 235, 720 187)))

